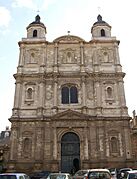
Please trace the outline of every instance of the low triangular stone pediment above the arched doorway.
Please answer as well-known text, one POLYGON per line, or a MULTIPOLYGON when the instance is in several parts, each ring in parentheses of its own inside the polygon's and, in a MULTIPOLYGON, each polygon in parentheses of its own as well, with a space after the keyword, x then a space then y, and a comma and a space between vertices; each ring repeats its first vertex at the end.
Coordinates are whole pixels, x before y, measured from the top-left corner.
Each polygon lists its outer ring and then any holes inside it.
POLYGON ((52 116, 52 119, 88 119, 88 118, 90 118, 89 115, 77 111, 73 111, 70 109, 52 116))

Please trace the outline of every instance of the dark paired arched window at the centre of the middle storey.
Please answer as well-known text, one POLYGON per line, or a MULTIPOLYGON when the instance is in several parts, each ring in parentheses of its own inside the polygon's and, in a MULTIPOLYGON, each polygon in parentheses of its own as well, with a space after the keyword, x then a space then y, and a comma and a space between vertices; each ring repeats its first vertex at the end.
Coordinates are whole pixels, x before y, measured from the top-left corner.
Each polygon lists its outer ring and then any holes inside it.
POLYGON ((62 104, 78 103, 78 91, 75 86, 64 86, 61 90, 62 104))

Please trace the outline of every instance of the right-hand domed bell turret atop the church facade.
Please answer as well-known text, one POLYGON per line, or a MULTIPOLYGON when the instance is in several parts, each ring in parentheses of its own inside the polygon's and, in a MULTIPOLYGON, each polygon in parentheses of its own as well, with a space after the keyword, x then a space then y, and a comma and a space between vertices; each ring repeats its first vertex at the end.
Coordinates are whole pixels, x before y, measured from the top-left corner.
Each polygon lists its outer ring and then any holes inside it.
POLYGON ((91 28, 92 37, 111 37, 111 26, 102 20, 102 16, 98 15, 97 22, 91 28))

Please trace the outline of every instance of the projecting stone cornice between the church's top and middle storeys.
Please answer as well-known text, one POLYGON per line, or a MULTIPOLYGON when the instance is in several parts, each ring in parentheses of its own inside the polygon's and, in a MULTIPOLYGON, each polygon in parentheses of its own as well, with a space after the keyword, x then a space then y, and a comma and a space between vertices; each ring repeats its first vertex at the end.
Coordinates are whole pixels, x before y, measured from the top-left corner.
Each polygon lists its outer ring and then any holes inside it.
POLYGON ((16 79, 16 83, 22 83, 23 81, 27 81, 29 78, 37 80, 38 82, 44 82, 48 79, 53 78, 57 80, 58 78, 78 78, 78 79, 92 79, 94 81, 101 80, 117 80, 119 82, 123 82, 123 78, 125 73, 61 73, 61 72, 50 72, 50 73, 38 73, 38 74, 23 74, 17 73, 14 74, 14 78, 16 79))

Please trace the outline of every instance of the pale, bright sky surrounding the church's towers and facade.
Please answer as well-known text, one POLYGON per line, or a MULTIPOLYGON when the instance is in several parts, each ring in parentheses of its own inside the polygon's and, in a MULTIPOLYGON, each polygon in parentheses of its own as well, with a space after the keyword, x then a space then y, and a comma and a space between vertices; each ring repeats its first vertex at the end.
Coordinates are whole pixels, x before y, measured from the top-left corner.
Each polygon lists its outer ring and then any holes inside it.
POLYGON ((91 27, 101 14, 120 40, 119 55, 129 115, 137 110, 137 10, 136 0, 0 0, 0 131, 11 126, 15 80, 19 60, 18 42, 37 14, 47 28, 46 39, 79 36, 90 41, 91 27))

